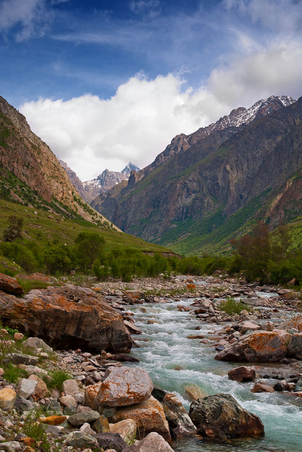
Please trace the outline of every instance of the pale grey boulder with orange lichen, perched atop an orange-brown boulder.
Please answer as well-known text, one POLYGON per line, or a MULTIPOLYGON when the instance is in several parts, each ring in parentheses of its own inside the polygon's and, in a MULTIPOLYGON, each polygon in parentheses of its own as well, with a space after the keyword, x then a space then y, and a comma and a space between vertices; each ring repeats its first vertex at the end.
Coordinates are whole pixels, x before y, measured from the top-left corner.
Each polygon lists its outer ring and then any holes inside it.
POLYGON ((100 406, 128 406, 147 400, 151 396, 151 378, 139 367, 109 367, 102 383, 96 383, 85 391, 85 405, 96 409, 100 406))

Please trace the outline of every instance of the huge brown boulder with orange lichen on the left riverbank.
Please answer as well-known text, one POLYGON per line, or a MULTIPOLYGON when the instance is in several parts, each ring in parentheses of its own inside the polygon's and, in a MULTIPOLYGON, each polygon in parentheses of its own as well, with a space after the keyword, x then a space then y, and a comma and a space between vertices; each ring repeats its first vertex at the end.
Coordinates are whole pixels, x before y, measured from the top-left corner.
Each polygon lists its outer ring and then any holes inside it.
POLYGON ((121 315, 87 288, 31 290, 22 299, 0 292, 0 312, 11 325, 60 348, 126 352, 132 346, 121 315))

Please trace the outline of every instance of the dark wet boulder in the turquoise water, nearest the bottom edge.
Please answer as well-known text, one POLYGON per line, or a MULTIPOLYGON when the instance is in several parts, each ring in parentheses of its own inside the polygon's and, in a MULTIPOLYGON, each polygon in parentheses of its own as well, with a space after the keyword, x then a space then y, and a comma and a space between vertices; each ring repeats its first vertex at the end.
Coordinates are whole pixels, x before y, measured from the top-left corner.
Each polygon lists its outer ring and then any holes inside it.
POLYGON ((216 394, 192 402, 189 416, 198 433, 211 438, 264 435, 259 417, 242 408, 229 394, 216 394))

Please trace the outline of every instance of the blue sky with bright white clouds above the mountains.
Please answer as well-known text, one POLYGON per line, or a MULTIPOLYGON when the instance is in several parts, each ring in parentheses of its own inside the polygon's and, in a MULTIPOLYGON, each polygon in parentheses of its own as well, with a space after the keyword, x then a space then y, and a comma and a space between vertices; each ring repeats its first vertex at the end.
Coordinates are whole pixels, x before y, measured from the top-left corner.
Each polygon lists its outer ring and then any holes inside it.
POLYGON ((0 95, 89 180, 302 95, 302 0, 0 0, 0 95))

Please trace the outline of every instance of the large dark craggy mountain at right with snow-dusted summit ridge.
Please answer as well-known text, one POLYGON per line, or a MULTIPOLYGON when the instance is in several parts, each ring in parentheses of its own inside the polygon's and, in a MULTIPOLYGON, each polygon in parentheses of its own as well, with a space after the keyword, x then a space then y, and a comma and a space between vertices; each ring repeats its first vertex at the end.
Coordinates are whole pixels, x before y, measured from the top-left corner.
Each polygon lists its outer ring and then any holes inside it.
POLYGON ((301 117, 302 98, 237 108, 175 137, 92 205, 123 231, 179 253, 225 250, 257 217, 273 229, 302 215, 301 117))

